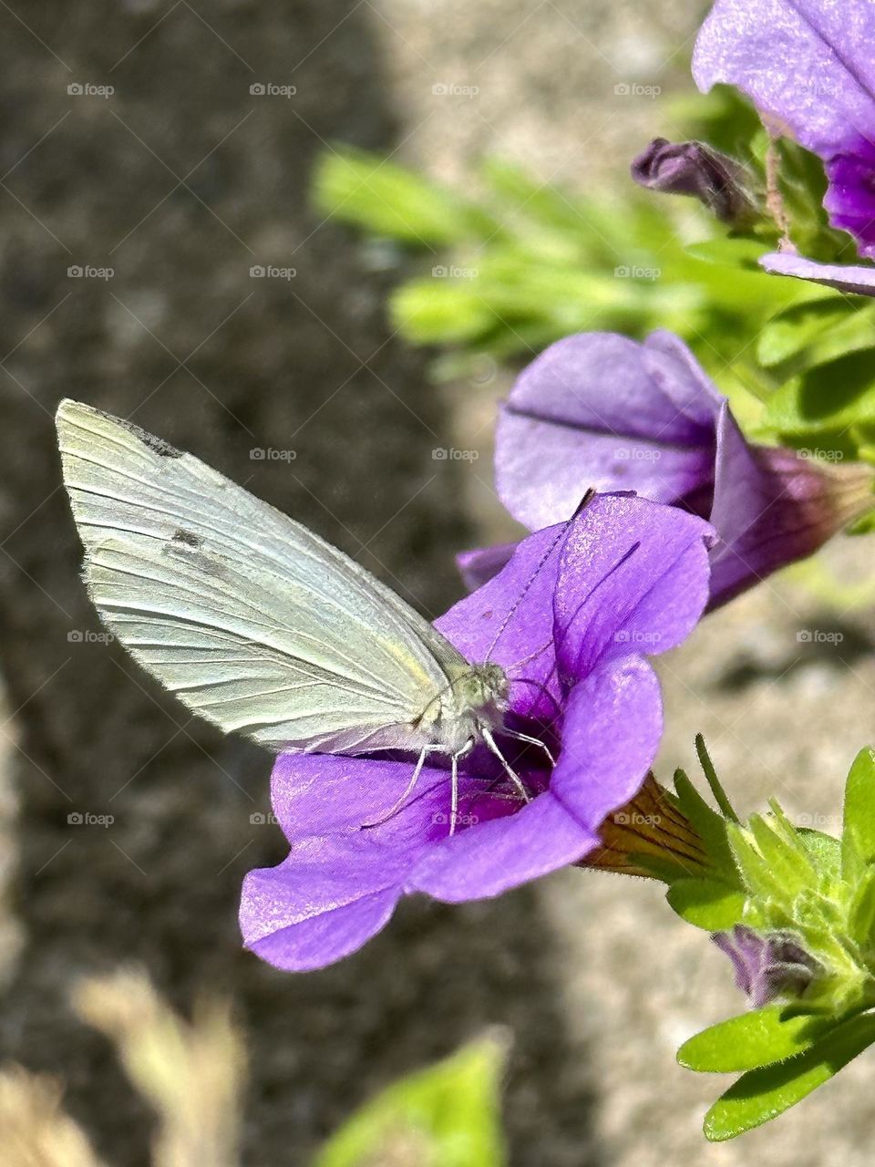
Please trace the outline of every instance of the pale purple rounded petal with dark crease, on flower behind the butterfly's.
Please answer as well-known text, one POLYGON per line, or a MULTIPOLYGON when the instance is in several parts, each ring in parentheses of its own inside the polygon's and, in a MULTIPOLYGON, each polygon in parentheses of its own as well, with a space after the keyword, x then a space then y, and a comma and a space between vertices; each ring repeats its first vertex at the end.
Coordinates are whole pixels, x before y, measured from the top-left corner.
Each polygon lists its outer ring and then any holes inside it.
POLYGON ((532 530, 590 487, 676 502, 710 483, 722 398, 680 341, 612 333, 558 341, 519 376, 496 433, 496 483, 532 530))

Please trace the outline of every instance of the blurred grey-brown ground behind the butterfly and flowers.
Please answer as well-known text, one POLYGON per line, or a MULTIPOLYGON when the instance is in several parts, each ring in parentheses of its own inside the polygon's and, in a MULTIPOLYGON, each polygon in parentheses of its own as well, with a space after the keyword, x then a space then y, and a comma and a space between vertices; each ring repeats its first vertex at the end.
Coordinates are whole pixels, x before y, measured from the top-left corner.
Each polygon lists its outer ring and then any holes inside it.
MULTIPOLYGON (((204 987, 232 994, 252 1060, 250 1167, 306 1162, 380 1085, 490 1023, 514 1034, 505 1117, 520 1167, 869 1161, 872 1058, 779 1124, 704 1142, 722 1082, 677 1068, 674 1049, 740 1001, 707 937, 645 881, 569 871, 495 902, 411 902, 310 976, 242 952, 240 879, 284 854, 278 829, 251 819, 268 809, 270 759, 88 635, 99 627, 60 491, 51 415, 72 396, 133 414, 443 610, 460 594, 452 552, 510 531, 489 469, 506 380, 428 385, 425 355, 385 320, 401 273, 374 273, 308 207, 314 159, 341 140, 463 183, 485 153, 544 182, 616 179, 670 132, 666 97, 691 91, 698 15, 629 0, 0 8, 0 1053, 66 1081, 107 1162, 148 1161, 150 1117, 68 993, 130 960, 182 1008, 204 987), (664 92, 615 95, 636 81, 664 92), (253 96, 257 82, 298 92, 253 96), (253 280, 253 264, 296 275, 253 280), (71 279, 71 265, 114 275, 71 279), (453 443, 482 456, 433 459, 453 443), (114 823, 75 826, 74 812, 114 823)), ((870 555, 845 541, 824 559, 847 580, 870 555)), ((660 664, 662 773, 692 769, 702 731, 742 809, 777 794, 828 829, 872 736, 873 629, 870 610, 784 579, 710 617, 660 664)))

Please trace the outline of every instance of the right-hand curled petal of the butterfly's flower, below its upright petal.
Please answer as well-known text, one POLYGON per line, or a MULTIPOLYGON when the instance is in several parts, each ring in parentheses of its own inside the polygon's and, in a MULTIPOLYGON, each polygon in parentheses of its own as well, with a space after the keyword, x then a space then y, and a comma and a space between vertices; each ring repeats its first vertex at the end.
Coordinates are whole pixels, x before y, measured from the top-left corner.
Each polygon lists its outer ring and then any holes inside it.
POLYGON ((659 682, 648 662, 606 661, 568 697, 551 794, 597 831, 640 789, 662 733, 659 682))

